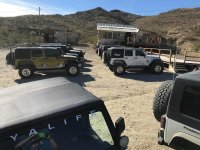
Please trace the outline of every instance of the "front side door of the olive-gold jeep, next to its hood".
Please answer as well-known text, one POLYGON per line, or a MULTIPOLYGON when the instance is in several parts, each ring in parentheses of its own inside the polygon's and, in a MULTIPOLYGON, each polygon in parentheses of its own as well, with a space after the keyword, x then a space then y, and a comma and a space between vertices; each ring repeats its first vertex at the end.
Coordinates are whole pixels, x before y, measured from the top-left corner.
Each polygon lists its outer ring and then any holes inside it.
POLYGON ((61 68, 60 59, 56 56, 55 49, 45 49, 44 50, 44 68, 55 69, 61 68))

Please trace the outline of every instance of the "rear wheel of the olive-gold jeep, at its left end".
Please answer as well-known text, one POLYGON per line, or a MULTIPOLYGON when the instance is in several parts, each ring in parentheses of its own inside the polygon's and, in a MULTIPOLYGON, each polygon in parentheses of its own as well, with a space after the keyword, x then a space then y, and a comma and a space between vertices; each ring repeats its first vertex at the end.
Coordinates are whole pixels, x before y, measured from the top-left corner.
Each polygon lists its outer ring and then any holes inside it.
POLYGON ((23 65, 19 67, 18 73, 22 79, 29 79, 33 77, 34 69, 31 65, 23 65))

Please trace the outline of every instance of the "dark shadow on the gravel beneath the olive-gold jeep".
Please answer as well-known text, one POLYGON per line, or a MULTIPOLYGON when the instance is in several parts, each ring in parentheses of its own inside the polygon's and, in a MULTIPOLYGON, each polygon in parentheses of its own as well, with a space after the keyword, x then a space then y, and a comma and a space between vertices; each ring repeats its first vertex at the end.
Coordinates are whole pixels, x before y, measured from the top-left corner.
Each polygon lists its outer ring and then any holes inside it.
POLYGON ((23 83, 28 83, 32 81, 39 81, 39 80, 55 78, 55 77, 65 77, 67 80, 77 83, 82 87, 86 87, 85 85, 86 82, 95 81, 95 79, 89 74, 80 73, 80 75, 76 77, 70 77, 70 76, 66 76, 65 72, 50 72, 50 73, 48 72, 48 73, 35 73, 35 76, 31 79, 16 79, 15 82, 17 84, 23 84, 23 83))

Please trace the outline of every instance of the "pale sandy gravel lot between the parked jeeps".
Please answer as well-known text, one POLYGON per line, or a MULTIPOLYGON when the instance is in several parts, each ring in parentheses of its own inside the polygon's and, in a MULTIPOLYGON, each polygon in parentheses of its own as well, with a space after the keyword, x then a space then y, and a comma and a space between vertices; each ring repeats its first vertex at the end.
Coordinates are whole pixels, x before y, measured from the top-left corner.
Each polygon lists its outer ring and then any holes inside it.
MULTIPOLYGON (((113 122, 124 117, 125 135, 129 137, 129 150, 167 150, 157 144, 159 123, 152 113, 153 96, 160 83, 173 79, 173 74, 164 72, 154 75, 149 72, 135 71, 116 77, 102 63, 91 47, 79 47, 86 50, 86 62, 77 77, 67 77, 85 89, 103 99, 113 122)), ((63 72, 37 74, 32 80, 22 80, 18 71, 5 64, 7 50, 0 50, 0 88, 15 84, 40 80, 54 76, 64 76, 63 72)))

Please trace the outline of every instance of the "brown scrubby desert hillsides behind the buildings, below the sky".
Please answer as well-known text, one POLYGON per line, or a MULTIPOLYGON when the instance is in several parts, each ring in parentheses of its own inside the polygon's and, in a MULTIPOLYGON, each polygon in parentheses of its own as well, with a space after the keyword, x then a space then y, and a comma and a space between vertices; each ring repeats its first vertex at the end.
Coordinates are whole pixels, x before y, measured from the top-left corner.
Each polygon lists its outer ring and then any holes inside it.
MULTIPOLYGON (((133 24, 157 32, 182 51, 200 50, 200 8, 177 9, 156 16, 138 16, 120 10, 95 8, 71 15, 42 15, 41 30, 78 32, 83 41, 95 42, 97 23, 133 24)), ((0 46, 37 42, 38 16, 0 18, 0 46)))

